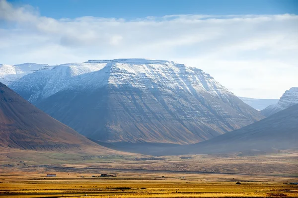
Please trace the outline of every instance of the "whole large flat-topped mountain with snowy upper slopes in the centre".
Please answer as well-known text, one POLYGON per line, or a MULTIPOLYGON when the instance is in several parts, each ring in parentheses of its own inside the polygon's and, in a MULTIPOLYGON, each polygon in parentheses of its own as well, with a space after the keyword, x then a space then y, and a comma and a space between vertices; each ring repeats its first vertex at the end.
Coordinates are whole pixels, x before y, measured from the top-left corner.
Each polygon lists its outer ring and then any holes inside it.
POLYGON ((264 118, 201 69, 171 61, 90 60, 28 74, 10 87, 102 141, 195 143, 264 118))

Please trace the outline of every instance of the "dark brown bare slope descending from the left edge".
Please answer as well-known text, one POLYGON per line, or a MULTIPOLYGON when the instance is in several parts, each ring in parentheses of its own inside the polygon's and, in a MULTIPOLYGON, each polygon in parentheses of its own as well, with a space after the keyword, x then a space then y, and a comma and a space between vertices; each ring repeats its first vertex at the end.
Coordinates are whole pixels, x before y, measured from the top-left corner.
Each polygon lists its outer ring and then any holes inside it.
POLYGON ((2 83, 0 146, 32 150, 103 148, 37 109, 2 83))

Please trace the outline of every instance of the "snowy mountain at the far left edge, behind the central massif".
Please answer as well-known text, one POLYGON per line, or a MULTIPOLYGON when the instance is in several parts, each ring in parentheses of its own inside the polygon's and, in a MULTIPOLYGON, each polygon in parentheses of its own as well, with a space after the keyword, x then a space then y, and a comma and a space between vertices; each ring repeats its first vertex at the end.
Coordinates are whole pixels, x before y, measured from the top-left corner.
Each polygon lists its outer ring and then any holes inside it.
POLYGON ((0 64, 0 82, 9 85, 28 73, 51 68, 53 68, 53 66, 35 63, 25 63, 14 66, 0 64))

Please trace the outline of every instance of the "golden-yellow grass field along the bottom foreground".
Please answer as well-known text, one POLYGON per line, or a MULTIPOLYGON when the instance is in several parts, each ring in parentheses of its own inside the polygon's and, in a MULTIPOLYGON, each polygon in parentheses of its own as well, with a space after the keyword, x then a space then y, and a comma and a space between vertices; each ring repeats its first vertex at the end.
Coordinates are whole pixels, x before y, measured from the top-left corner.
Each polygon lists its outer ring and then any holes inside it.
MULTIPOLYGON (((13 171, 13 170, 11 170, 13 171)), ((0 175, 1 198, 197 198, 197 197, 286 197, 298 198, 298 185, 278 182, 278 177, 217 174, 116 172, 117 177, 92 177, 89 173, 43 170, 0 175), (52 172, 51 172, 52 173, 52 172), (81 177, 84 176, 84 177, 81 177), (225 181, 224 181, 225 179, 225 181), (258 181, 256 181, 258 180, 258 181), (236 185, 240 181, 241 185, 236 185), (86 195, 86 196, 85 196, 86 195)), ((110 172, 108 172, 110 173, 110 172)), ((284 178, 285 180, 291 178, 284 178)))

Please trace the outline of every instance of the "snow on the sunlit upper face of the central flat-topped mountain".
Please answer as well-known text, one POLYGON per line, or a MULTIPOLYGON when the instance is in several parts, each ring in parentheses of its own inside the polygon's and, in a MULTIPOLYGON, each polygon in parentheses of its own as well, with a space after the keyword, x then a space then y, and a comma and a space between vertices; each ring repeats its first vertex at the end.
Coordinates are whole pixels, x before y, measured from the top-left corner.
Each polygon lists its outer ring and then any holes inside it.
POLYGON ((115 87, 131 86, 137 88, 153 89, 169 88, 183 89, 187 92, 205 90, 215 97, 224 97, 223 93, 231 93, 219 82, 203 70, 187 67, 173 61, 147 60, 147 59, 116 59, 116 60, 90 60, 85 63, 106 63, 106 68, 84 76, 82 85, 86 88, 100 87, 112 84, 115 87), (98 78, 108 80, 103 83, 98 78))

